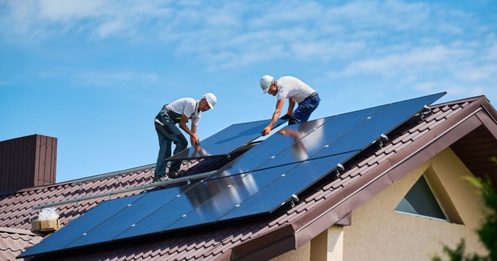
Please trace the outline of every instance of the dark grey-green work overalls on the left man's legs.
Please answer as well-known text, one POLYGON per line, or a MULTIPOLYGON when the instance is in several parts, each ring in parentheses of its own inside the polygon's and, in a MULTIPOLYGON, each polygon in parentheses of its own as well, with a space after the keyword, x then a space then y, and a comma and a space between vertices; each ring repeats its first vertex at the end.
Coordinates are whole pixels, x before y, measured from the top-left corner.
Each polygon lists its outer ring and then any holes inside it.
MULTIPOLYGON (((154 122, 160 146, 154 173, 154 176, 157 177, 166 175, 167 163, 165 160, 171 157, 171 143, 176 145, 176 148, 174 149, 174 154, 176 154, 186 149, 188 141, 181 131, 179 131, 179 129, 175 126, 175 124, 179 122, 179 119, 181 119, 180 114, 167 110, 166 105, 164 105, 159 114, 157 114, 156 119, 164 124, 164 126, 161 126, 159 123, 154 122)), ((174 174, 179 171, 179 167, 181 167, 181 161, 171 162, 168 173, 174 174)))

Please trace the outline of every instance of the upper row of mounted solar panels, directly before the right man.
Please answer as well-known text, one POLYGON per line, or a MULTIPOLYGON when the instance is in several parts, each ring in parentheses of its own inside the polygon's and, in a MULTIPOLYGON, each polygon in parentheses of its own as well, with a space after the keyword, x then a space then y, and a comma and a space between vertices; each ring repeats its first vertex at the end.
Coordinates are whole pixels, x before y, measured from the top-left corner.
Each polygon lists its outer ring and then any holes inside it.
POLYGON ((284 127, 207 179, 362 151, 445 92, 284 127))

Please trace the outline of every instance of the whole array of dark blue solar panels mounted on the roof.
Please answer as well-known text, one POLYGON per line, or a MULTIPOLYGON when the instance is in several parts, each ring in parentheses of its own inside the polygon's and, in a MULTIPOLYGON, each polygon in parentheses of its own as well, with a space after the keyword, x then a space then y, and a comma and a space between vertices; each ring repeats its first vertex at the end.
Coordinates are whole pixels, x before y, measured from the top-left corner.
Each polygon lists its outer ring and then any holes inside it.
POLYGON ((443 94, 285 127, 203 182, 105 201, 21 257, 271 213, 443 94))

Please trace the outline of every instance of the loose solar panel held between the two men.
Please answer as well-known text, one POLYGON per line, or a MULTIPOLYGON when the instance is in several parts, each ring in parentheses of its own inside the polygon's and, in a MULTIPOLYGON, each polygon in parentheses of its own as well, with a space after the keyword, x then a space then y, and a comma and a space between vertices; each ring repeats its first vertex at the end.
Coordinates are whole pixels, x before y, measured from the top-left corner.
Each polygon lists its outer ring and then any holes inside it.
MULTIPOLYGON (((260 120, 247 123, 233 124, 220 132, 201 141, 200 146, 192 146, 181 151, 166 161, 200 159, 209 156, 229 155, 238 148, 261 136, 260 132, 269 124, 270 120, 260 120)), ((278 120, 273 129, 285 123, 278 120)))

